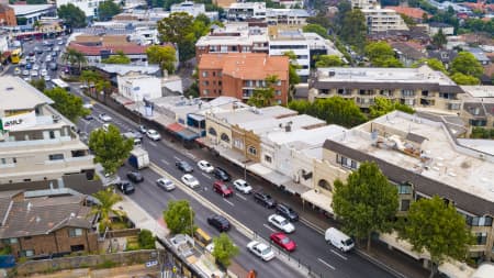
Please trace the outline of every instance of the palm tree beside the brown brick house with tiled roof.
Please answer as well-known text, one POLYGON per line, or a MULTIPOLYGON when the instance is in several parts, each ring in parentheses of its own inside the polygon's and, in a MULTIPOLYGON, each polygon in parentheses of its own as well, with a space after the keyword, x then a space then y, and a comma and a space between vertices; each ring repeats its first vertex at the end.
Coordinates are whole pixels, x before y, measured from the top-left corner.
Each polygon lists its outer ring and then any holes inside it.
POLYGON ((113 192, 111 187, 100 190, 93 193, 92 196, 97 198, 98 201, 100 202, 91 207, 90 214, 99 215, 100 219, 99 230, 100 233, 103 233, 106 230, 106 227, 110 227, 113 215, 117 218, 122 218, 123 215, 125 215, 123 211, 113 209, 115 203, 122 201, 122 197, 113 192))

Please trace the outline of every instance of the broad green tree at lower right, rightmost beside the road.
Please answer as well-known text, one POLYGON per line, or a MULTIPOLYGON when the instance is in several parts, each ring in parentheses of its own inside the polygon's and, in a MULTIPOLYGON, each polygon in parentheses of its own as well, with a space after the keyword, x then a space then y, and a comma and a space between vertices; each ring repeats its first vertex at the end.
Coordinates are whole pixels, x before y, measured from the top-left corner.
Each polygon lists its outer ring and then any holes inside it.
POLYGON ((400 237, 407 240, 415 252, 430 254, 429 277, 434 277, 448 257, 464 260, 468 246, 473 243, 464 218, 452 202, 446 203, 438 196, 412 203, 400 237))

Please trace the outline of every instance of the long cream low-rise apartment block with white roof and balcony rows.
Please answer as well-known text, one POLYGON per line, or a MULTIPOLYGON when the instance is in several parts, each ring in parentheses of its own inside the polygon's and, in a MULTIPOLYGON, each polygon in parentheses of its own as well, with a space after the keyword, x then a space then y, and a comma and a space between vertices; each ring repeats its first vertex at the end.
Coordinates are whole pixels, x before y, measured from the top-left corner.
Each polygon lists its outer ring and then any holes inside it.
POLYGON ((463 90, 448 76, 424 65, 418 68, 318 68, 308 99, 339 96, 362 110, 383 97, 414 109, 459 112, 463 90))

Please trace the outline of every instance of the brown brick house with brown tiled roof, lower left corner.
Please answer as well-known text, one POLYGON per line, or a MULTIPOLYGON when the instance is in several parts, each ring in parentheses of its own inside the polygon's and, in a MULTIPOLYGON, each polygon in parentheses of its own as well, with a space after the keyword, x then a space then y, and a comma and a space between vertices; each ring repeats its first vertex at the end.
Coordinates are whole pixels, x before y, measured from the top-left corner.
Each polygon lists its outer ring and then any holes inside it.
POLYGON ((83 196, 25 198, 0 192, 0 247, 15 257, 45 257, 98 251, 94 216, 83 196))

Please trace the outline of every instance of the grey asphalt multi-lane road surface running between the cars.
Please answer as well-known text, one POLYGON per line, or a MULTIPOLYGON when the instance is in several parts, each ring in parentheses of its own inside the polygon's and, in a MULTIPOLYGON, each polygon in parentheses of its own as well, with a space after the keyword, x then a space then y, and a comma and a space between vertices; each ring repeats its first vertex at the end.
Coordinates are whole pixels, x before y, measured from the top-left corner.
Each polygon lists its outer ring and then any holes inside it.
MULTIPOLYGON (((78 90, 76 87, 72 91, 78 90)), ((125 121, 121 115, 113 113, 106 107, 97 104, 94 107, 93 114, 105 112, 113 118, 113 124, 117 125, 121 131, 127 131, 135 129, 136 124, 125 121)), ((102 123, 99 119, 86 122, 81 120, 81 130, 90 131, 94 127, 101 126, 102 123)), ((201 189, 198 192, 206 200, 211 201, 224 212, 228 213, 243 224, 255 231, 263 238, 269 238, 269 235, 276 230, 268 224, 268 216, 273 213, 272 210, 265 209, 263 207, 254 202, 251 196, 244 196, 236 192, 234 197, 224 199, 220 194, 211 190, 212 182, 215 180, 211 175, 202 173, 197 166, 197 157, 194 154, 180 148, 179 146, 172 146, 170 142, 150 142, 144 140, 144 147, 149 152, 150 160, 159 166, 171 176, 180 179, 182 173, 179 171, 176 166, 176 160, 186 160, 190 165, 194 166, 194 177, 200 181, 201 189), (171 146, 170 146, 171 145, 171 146)), ((236 169, 231 170, 231 166, 224 165, 222 160, 210 160, 213 165, 224 166, 229 169, 229 174, 233 176, 233 180, 236 178, 243 178, 244 171, 236 169)), ((125 174, 128 170, 126 166, 121 170, 121 174, 125 174)), ((180 189, 175 190, 171 193, 159 190, 154 181, 158 178, 157 174, 150 169, 142 171, 145 176, 146 182, 138 185, 136 193, 131 198, 138 203, 144 210, 149 212, 153 216, 161 218, 161 212, 166 208, 166 203, 170 199, 187 199, 190 200, 194 211, 197 212, 195 221, 199 226, 204 229, 207 233, 217 235, 217 232, 212 230, 206 223, 205 219, 211 214, 211 211, 205 209, 201 203, 191 199, 180 189)), ((252 181, 254 177, 248 177, 248 180, 252 181)), ((263 182, 256 180, 254 188, 262 188, 260 185, 263 182)), ((279 200, 280 201, 280 200, 279 200)), ((303 264, 310 265, 311 270, 317 274, 317 277, 393 277, 391 274, 382 270, 381 268, 370 264, 355 253, 341 253, 324 241, 324 236, 305 224, 295 223, 296 231, 290 235, 297 244, 297 249, 293 253, 293 257, 303 264)), ((242 236, 237 231, 228 232, 238 246, 245 246, 247 243, 246 237, 242 236)), ((262 264, 257 260, 252 255, 245 252, 238 256, 238 263, 247 268, 255 268, 259 273, 259 277, 297 277, 296 274, 290 271, 281 262, 274 260, 267 264, 262 264), (287 273, 289 271, 289 273, 287 273)))

